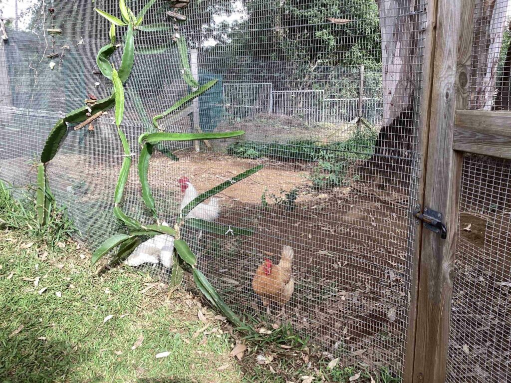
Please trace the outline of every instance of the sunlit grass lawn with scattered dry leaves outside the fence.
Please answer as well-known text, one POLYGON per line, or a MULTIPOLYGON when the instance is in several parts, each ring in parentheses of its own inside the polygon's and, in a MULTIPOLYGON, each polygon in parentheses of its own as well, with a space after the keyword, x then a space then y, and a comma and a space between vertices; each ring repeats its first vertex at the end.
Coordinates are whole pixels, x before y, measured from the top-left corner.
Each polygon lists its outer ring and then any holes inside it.
POLYGON ((241 381, 215 313, 125 268, 95 276, 89 257, 0 232, 0 381, 241 381))

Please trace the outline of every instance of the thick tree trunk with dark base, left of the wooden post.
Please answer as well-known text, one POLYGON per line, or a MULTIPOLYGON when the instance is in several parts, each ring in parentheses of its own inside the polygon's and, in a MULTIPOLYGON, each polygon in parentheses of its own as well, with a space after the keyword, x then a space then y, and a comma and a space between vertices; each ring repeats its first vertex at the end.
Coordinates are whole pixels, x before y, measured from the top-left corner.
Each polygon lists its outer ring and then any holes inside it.
POLYGON ((382 35, 383 127, 375 153, 363 173, 389 170, 407 181, 414 147, 422 84, 421 33, 425 4, 421 0, 376 0, 382 35), (367 172, 369 170, 369 172, 367 172))

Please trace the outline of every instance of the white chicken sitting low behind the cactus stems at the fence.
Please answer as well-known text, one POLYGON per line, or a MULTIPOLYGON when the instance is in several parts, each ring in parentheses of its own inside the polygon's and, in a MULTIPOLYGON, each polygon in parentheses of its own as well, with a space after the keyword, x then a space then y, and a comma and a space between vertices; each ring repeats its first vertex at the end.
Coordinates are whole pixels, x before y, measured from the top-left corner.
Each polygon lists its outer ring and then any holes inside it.
MULTIPOLYGON (((169 226, 166 222, 163 222, 162 225, 169 226)), ((128 266, 156 265, 160 260, 163 266, 170 269, 174 260, 173 257, 174 237, 168 234, 160 234, 138 245, 124 261, 124 264, 128 266)))

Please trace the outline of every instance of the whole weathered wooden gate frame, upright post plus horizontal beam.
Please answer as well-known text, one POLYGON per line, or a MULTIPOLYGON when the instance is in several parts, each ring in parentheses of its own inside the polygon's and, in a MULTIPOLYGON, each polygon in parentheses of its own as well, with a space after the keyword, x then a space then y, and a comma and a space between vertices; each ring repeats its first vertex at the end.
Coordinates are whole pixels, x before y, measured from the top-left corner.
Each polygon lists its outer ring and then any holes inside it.
POLYGON ((463 152, 511 159, 511 112, 467 110, 475 0, 431 0, 419 152, 419 203, 443 214, 447 238, 417 227, 403 380, 446 379, 463 152))

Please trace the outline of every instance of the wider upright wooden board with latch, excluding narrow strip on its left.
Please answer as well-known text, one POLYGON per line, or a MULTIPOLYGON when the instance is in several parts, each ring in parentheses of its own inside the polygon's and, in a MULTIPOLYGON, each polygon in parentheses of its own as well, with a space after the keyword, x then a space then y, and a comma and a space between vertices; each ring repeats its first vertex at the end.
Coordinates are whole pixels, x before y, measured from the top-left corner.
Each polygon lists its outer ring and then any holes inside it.
POLYGON ((461 154, 452 150, 455 109, 466 109, 475 0, 438 0, 424 206, 443 214, 447 239, 423 230, 413 382, 445 381, 461 154))

